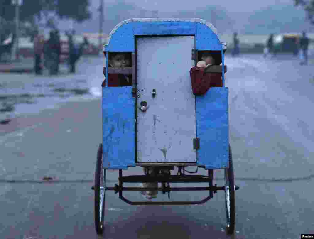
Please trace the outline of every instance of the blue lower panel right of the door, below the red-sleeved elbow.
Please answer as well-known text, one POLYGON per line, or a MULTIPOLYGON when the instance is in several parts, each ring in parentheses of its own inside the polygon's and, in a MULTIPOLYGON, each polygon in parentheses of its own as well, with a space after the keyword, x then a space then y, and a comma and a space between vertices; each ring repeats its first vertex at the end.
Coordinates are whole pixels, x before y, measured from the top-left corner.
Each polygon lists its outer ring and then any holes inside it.
POLYGON ((196 133, 200 138, 198 165, 206 169, 228 167, 228 88, 210 88, 196 96, 196 133))

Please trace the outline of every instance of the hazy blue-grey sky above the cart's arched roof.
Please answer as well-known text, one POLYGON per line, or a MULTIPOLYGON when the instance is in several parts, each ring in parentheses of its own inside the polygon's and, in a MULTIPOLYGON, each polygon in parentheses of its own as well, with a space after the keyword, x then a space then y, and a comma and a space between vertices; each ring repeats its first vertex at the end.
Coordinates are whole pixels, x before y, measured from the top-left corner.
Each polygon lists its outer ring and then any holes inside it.
MULTIPOLYGON (((295 8, 294 0, 227 0, 210 1, 198 0, 102 0, 104 3, 103 32, 109 34, 111 30, 123 20, 137 17, 153 17, 152 10, 158 10, 157 17, 193 17, 205 19, 219 29, 220 34, 270 34, 312 32, 314 25, 306 21, 306 13, 302 7, 295 8), (121 8, 120 8, 121 6, 121 8), (134 11, 132 10, 134 8, 134 11), (217 10, 212 14, 212 10, 217 10), (212 10, 210 10, 212 9, 212 10), (141 10, 148 12, 141 13, 141 10), (169 14, 168 14, 169 13, 169 14), (192 13, 192 14, 189 14, 192 13)), ((77 33, 99 32, 100 0, 90 0, 89 10, 92 18, 83 23, 74 23, 77 33)), ((72 24, 59 21, 59 29, 66 30, 72 24)))

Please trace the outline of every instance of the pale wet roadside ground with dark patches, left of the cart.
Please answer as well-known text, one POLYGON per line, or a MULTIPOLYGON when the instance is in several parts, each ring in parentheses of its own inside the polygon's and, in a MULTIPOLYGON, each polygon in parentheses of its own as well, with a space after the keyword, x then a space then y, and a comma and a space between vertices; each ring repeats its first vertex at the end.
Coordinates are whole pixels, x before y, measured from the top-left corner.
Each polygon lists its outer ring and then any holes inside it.
MULTIPOLYGON (((16 63, 16 67, 31 68, 33 61, 26 58, 16 63)), ((103 57, 85 56, 78 61, 75 74, 69 72, 66 63, 60 64, 56 76, 49 76, 47 70, 42 75, 0 73, 0 121, 19 114, 40 112, 60 101, 99 98, 103 65, 103 57)))

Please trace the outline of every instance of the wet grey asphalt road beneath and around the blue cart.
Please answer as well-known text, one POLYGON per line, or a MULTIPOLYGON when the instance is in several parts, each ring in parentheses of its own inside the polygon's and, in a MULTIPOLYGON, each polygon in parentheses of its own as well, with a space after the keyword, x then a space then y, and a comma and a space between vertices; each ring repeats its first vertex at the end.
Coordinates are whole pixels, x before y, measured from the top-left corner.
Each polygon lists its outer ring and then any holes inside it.
MULTIPOLYGON (((226 59, 230 144, 240 185, 231 238, 300 238, 301 233, 314 233, 314 62, 301 67, 290 56, 280 57, 226 59)), ((28 127, 1 136, 0 238, 98 238, 90 187, 101 142, 100 105, 94 100, 47 109, 29 116, 33 123, 28 127), (39 183, 44 176, 56 182, 39 183)), ((124 174, 142 170, 129 168, 124 174)), ((215 176, 222 178, 223 172, 215 171, 215 176)), ((117 178, 116 171, 108 172, 108 186, 117 178)), ((222 180, 214 183, 223 185, 222 180)), ((189 184, 194 185, 202 184, 189 184)), ((141 199, 138 192, 124 195, 141 199)), ((176 192, 171 200, 200 200, 207 195, 176 192)), ((168 200, 161 193, 158 199, 168 200)), ((108 192, 105 218, 102 238, 230 237, 224 231, 223 192, 195 206, 131 206, 108 192)))

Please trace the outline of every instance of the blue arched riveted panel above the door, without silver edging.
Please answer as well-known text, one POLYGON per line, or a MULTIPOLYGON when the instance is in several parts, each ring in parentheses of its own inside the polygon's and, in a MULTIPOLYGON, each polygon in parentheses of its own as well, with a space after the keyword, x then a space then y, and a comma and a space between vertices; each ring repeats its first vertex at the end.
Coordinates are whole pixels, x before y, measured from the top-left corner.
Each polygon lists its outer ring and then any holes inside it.
POLYGON ((135 52, 135 35, 195 35, 196 49, 221 50, 217 35, 199 22, 128 22, 111 36, 107 51, 135 52))

